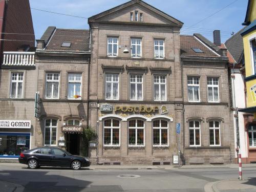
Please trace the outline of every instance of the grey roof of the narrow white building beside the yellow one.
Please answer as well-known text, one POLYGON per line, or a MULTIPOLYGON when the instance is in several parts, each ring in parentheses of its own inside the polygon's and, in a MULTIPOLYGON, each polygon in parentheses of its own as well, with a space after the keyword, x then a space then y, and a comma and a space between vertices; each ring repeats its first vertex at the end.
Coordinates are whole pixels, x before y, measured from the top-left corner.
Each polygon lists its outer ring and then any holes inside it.
POLYGON ((233 56, 234 60, 236 60, 237 63, 241 62, 244 51, 243 37, 240 34, 243 29, 241 29, 239 32, 237 32, 232 37, 227 39, 225 42, 225 46, 227 47, 228 51, 230 52, 230 54, 233 56))

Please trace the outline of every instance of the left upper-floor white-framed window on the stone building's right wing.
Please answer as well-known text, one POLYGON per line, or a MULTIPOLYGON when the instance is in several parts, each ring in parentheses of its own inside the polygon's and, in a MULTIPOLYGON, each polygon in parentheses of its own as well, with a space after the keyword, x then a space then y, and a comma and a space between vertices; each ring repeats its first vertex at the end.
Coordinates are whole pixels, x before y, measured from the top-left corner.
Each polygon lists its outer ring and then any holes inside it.
POLYGON ((199 77, 187 77, 188 101, 200 101, 200 81, 199 77))

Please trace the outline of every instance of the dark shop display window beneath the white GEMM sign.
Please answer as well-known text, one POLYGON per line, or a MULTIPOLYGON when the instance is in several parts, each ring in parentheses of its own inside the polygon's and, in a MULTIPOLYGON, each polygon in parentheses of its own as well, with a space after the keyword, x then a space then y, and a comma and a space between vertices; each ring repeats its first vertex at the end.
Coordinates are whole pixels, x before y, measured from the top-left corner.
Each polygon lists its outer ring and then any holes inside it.
POLYGON ((19 156, 29 150, 30 134, 28 133, 0 133, 0 157, 19 156))

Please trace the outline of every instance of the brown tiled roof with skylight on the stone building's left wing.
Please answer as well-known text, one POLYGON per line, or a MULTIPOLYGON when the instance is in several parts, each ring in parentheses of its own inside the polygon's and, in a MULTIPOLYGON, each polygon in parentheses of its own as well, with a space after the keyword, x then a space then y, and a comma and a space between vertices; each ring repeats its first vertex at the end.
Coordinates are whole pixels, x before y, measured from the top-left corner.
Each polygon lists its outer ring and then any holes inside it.
MULTIPOLYGON (((46 33, 47 34, 47 31, 46 33)), ((47 37, 43 35, 42 38, 47 37)), ((42 39, 41 38, 41 39, 42 39)), ((51 51, 90 51, 90 31, 81 29, 55 29, 45 50, 51 51), (71 42, 70 47, 62 47, 63 42, 71 42)))

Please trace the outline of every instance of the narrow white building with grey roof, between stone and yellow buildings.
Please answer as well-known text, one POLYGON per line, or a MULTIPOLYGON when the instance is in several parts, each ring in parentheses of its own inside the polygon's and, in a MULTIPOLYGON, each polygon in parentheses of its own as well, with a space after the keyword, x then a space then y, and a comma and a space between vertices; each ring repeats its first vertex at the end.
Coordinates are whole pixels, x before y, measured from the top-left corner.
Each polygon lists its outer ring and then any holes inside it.
MULTIPOLYGON (((243 38, 240 31, 234 34, 225 42, 228 49, 229 69, 230 69, 230 92, 232 95, 233 123, 234 123, 234 150, 237 151, 235 158, 238 157, 238 145, 242 155, 242 163, 251 163, 252 159, 248 156, 249 141, 247 124, 250 114, 239 112, 239 109, 246 108, 246 87, 245 87, 245 67, 243 38)), ((238 162, 238 161, 237 161, 238 162)))

